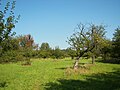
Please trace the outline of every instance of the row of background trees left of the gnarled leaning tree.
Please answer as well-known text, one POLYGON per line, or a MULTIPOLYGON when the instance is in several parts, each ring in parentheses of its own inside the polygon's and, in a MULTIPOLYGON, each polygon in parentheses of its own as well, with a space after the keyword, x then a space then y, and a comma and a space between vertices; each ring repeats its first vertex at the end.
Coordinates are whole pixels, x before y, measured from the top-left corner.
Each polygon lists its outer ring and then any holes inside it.
POLYGON ((30 61, 30 58, 53 58, 63 59, 65 57, 72 58, 75 51, 72 49, 63 49, 55 47, 52 49, 48 43, 42 43, 39 47, 34 43, 33 37, 28 34, 24 36, 9 36, 1 42, 0 48, 0 63, 30 61))

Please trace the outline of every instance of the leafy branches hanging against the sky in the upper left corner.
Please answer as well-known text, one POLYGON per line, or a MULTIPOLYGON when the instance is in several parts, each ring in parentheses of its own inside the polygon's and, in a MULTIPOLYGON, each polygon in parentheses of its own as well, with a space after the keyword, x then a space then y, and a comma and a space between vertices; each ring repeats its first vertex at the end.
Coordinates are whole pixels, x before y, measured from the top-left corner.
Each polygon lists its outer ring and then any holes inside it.
POLYGON ((20 15, 17 18, 14 15, 15 3, 16 1, 7 2, 4 10, 0 10, 0 46, 3 41, 15 35, 15 32, 12 33, 12 29, 15 28, 15 24, 20 18, 20 15))

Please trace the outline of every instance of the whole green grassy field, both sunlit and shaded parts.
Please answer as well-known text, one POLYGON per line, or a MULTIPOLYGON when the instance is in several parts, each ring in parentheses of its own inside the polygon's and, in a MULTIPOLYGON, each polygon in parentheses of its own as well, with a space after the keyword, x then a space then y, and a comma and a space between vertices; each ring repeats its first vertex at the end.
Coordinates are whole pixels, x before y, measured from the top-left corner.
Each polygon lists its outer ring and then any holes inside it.
POLYGON ((0 64, 0 90, 120 90, 120 65, 96 62, 71 69, 74 61, 31 60, 32 65, 0 64))

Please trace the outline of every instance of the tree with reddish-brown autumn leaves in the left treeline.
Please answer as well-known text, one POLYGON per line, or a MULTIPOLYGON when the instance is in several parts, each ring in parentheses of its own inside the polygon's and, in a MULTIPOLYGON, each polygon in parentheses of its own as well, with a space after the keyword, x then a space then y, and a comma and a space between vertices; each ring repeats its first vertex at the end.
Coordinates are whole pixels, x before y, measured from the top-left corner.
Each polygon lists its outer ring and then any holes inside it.
POLYGON ((20 52, 22 52, 22 55, 26 58, 24 65, 30 65, 30 58, 33 56, 34 47, 36 47, 34 43, 33 37, 28 34, 24 36, 19 36, 19 45, 20 45, 20 52))

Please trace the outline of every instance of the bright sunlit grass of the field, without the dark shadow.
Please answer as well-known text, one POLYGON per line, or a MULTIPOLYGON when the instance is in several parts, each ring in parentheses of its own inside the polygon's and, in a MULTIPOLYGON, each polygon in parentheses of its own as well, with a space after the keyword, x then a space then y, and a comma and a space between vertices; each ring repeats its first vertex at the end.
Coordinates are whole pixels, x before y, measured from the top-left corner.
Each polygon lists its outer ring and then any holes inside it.
POLYGON ((32 64, 28 66, 22 66, 20 62, 0 64, 0 90, 44 90, 46 84, 50 82, 59 83, 58 80, 63 79, 86 80, 93 74, 106 74, 116 69, 120 70, 118 64, 96 62, 95 65, 91 65, 91 59, 82 59, 80 62, 87 63, 85 64, 87 69, 80 68, 78 71, 72 69, 74 60, 69 58, 32 59, 31 61, 32 64))

